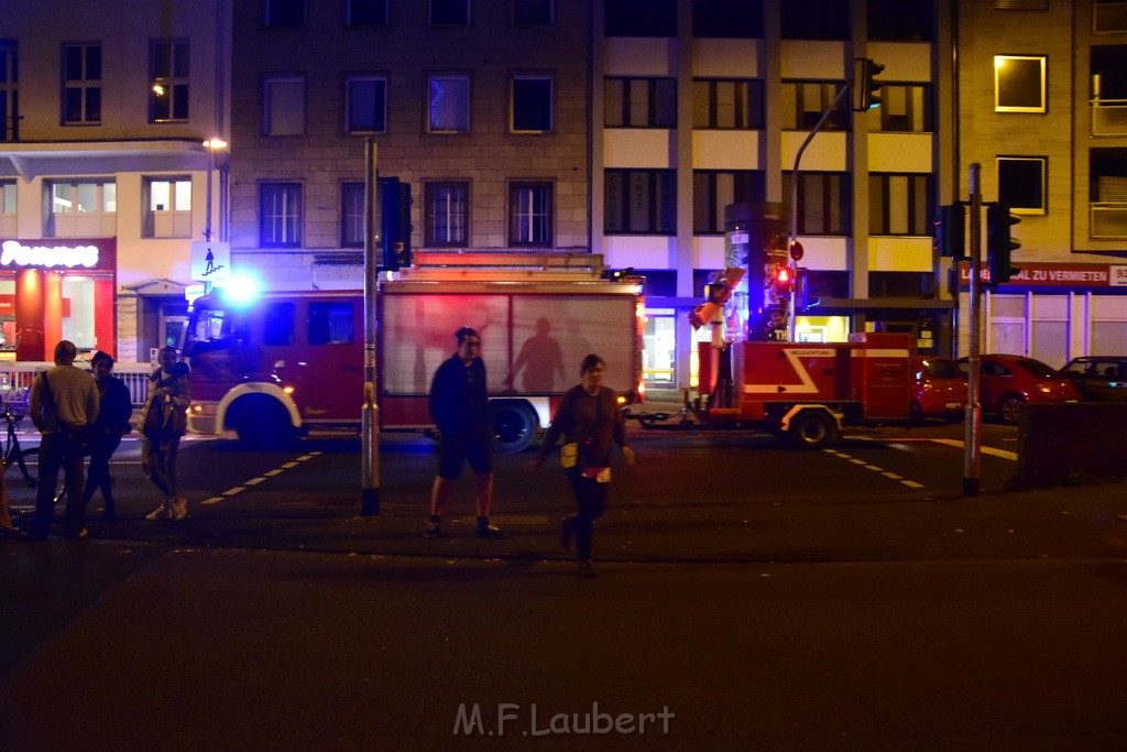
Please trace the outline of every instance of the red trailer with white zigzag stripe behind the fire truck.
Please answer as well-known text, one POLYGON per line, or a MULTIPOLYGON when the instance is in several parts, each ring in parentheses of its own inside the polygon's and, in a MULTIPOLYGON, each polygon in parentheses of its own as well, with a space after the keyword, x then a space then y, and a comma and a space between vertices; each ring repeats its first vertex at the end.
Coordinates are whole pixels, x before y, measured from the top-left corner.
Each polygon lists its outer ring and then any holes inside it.
POLYGON ((758 428, 820 449, 842 426, 909 422, 906 334, 858 333, 844 343, 699 343, 698 414, 709 427, 758 428))

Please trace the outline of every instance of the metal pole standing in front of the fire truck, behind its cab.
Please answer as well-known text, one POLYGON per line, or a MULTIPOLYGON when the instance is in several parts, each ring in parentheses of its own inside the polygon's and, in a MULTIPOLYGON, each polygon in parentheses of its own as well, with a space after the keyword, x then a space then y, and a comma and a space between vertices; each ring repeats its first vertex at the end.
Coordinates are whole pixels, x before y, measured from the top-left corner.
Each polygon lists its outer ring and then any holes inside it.
POLYGON ((364 402, 361 408, 361 514, 380 513, 380 406, 375 399, 375 295, 379 282, 380 205, 375 139, 364 141, 364 402))

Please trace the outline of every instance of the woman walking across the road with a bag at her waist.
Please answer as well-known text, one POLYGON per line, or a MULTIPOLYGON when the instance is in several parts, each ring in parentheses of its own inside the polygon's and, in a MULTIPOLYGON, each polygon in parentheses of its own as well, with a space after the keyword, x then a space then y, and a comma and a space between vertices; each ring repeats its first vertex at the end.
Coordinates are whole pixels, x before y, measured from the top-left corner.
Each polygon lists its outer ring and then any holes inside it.
POLYGON ((556 410, 552 425, 540 444, 540 453, 530 462, 543 465, 544 457, 559 437, 566 436, 560 448, 560 467, 571 484, 576 513, 561 522, 560 541, 571 547, 575 538, 578 554, 578 574, 596 576, 591 564, 591 540, 595 519, 606 505, 611 485, 611 445, 618 444, 627 465, 633 465, 633 450, 627 445, 622 410, 613 390, 603 387, 606 363, 598 355, 587 355, 580 366, 579 386, 564 395, 556 410))

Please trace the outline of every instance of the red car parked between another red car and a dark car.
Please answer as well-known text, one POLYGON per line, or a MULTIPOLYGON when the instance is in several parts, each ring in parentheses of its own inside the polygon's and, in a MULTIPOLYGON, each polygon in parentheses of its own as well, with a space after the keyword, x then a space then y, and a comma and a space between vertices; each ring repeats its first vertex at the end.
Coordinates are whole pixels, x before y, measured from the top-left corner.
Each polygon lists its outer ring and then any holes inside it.
MULTIPOLYGON (((979 397, 983 413, 1017 423, 1022 405, 1042 402, 1077 402, 1080 392, 1072 381, 1055 369, 1023 355, 979 355, 979 397)), ((967 359, 959 359, 967 372, 967 359)))

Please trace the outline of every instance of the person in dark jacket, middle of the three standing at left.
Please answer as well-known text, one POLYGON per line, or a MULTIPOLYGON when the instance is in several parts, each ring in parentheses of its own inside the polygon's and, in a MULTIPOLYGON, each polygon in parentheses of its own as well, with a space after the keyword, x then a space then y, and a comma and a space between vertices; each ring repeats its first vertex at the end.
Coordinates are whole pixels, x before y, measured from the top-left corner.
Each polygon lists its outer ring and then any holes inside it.
POLYGON ((82 501, 86 504, 94 498, 94 492, 101 489, 106 508, 103 520, 116 520, 117 511, 114 504, 113 478, 109 477, 109 458, 117 451, 122 436, 131 430, 130 418, 133 417, 133 398, 125 382, 115 375, 114 359, 109 353, 98 352, 90 359, 90 371, 98 384, 100 409, 94 422, 94 437, 90 442, 90 468, 86 476, 86 490, 82 501))

